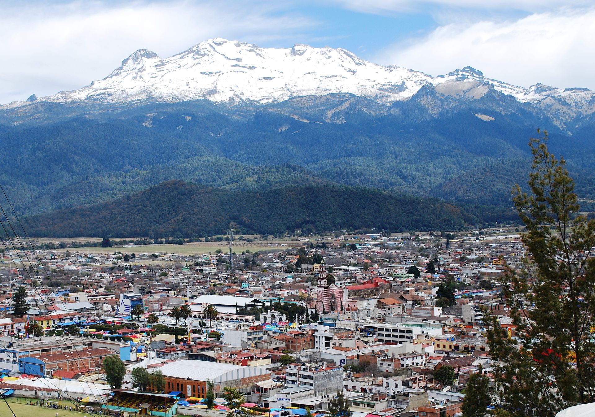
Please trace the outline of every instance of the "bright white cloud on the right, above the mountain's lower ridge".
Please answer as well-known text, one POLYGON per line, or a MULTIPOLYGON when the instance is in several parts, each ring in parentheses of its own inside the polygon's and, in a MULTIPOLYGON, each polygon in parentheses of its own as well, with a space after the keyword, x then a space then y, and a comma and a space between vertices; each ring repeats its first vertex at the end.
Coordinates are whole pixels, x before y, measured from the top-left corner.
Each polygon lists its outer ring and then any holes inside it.
POLYGON ((593 21, 595 8, 450 23, 385 48, 376 60, 432 75, 471 65, 486 77, 525 87, 543 83, 595 89, 593 21))

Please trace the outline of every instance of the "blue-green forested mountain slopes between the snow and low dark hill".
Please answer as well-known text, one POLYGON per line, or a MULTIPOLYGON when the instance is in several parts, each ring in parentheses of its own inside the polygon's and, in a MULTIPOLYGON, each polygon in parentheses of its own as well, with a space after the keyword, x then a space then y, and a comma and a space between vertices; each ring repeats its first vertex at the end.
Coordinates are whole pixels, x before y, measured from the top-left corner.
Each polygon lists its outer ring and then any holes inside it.
POLYGON ((255 195, 343 184, 469 203, 474 213, 499 207, 483 218, 508 210, 512 186, 526 184, 537 127, 566 158, 579 197, 595 198, 592 119, 571 130, 496 91, 455 100, 425 88, 390 107, 349 94, 232 108, 34 103, 0 111, 0 182, 23 215, 181 179, 255 195))

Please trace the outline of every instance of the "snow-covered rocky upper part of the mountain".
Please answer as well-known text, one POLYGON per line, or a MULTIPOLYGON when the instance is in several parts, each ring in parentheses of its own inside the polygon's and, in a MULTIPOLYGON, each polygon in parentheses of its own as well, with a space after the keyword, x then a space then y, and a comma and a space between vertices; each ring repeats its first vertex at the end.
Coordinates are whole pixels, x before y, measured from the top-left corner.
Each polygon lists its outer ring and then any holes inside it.
POLYGON ((340 48, 300 44, 288 49, 259 48, 220 38, 206 40, 169 58, 139 49, 103 80, 80 90, 32 96, 27 102, 11 105, 196 99, 230 104, 273 103, 330 93, 351 93, 389 105, 411 98, 428 84, 446 96, 479 98, 493 88, 542 108, 560 111, 560 106, 571 106, 575 114, 595 112, 595 93, 587 89, 557 89, 542 84, 525 89, 486 78, 471 67, 431 77, 402 67, 383 67, 340 48))

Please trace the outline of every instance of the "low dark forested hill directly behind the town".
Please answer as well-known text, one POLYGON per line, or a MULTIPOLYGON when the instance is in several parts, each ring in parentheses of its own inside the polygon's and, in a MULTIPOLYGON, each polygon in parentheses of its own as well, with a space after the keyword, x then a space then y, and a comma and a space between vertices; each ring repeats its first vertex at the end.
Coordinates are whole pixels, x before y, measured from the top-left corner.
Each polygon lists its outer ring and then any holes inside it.
MULTIPOLYGON (((451 230, 493 221, 484 211, 453 206, 434 198, 378 189, 303 185, 260 192, 230 191, 174 180, 137 194, 89 207, 63 209, 24 219, 32 236, 202 237, 226 233, 230 222, 242 233, 285 233, 376 228, 451 230)), ((512 219, 511 213, 496 213, 512 219)))

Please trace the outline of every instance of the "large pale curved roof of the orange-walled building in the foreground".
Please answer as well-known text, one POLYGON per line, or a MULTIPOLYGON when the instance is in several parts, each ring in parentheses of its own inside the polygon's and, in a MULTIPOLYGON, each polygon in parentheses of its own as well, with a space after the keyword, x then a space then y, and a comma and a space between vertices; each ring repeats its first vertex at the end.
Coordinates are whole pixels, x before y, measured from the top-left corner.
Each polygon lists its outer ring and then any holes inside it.
POLYGON ((196 361, 193 359, 171 362, 158 369, 167 377, 183 379, 192 378, 195 381, 206 381, 209 379, 215 383, 239 380, 240 378, 253 377, 255 375, 270 374, 270 371, 260 367, 240 367, 239 365, 196 361))

